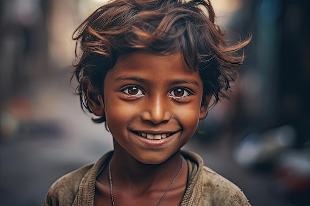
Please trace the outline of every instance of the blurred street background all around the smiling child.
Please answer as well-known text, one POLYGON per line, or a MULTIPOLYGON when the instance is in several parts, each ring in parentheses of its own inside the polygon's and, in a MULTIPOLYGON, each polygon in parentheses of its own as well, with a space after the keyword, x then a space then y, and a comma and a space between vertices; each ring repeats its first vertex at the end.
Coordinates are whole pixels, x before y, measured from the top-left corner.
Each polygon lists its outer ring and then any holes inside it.
MULTIPOLYGON (((106 0, 0 1, 0 205, 42 206, 61 175, 112 149, 70 84, 74 29, 106 0)), ((251 33, 231 102, 184 147, 253 206, 310 202, 307 0, 212 0, 230 39, 251 33)))

